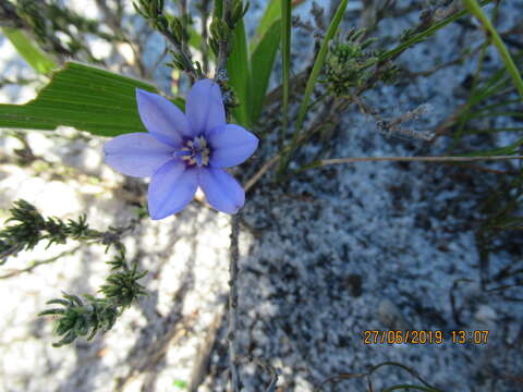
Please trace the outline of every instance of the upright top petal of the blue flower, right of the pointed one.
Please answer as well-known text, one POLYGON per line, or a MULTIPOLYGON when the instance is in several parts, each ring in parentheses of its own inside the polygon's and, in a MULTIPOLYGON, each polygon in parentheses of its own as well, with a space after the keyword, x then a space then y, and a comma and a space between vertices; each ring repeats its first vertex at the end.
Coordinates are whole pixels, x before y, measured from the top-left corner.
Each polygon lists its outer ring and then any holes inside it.
POLYGON ((193 136, 206 134, 226 124, 226 109, 220 86, 211 79, 200 79, 193 85, 185 105, 193 136))

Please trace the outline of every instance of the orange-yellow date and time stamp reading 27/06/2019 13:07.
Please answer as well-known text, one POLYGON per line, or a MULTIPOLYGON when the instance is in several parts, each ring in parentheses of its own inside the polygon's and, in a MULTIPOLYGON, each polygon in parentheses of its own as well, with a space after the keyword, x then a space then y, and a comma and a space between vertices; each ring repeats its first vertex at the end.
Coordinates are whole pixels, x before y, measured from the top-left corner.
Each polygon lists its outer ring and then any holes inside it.
POLYGON ((481 331, 430 331, 430 330, 366 330, 364 344, 487 344, 488 330, 481 331))

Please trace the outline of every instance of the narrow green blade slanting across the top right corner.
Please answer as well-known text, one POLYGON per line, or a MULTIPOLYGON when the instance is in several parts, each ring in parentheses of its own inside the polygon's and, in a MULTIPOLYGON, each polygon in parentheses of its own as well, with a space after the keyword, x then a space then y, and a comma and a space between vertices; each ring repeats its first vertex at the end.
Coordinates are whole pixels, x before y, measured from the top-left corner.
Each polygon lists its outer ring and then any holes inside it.
POLYGON ((498 50, 499 56, 501 56, 501 60, 503 60, 504 65, 507 66, 507 70, 509 71, 510 76, 512 77, 512 81, 515 85, 515 88, 518 89, 518 93, 523 98, 523 79, 521 78, 520 71, 515 66, 514 60, 512 60, 512 57, 510 56, 510 52, 507 49, 503 40, 490 23, 490 20, 487 17, 485 12, 483 12, 483 9, 479 7, 476 0, 463 0, 463 2, 465 3, 469 12, 472 13, 485 28, 487 36, 490 38, 494 46, 498 50))

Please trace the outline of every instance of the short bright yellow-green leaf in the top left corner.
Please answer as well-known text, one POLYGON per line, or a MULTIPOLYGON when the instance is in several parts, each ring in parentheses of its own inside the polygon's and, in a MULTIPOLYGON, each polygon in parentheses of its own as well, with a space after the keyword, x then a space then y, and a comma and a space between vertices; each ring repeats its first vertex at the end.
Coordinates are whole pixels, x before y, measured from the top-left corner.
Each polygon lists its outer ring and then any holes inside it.
POLYGON ((2 33, 36 72, 48 74, 58 68, 58 64, 42 52, 23 30, 3 27, 2 33))

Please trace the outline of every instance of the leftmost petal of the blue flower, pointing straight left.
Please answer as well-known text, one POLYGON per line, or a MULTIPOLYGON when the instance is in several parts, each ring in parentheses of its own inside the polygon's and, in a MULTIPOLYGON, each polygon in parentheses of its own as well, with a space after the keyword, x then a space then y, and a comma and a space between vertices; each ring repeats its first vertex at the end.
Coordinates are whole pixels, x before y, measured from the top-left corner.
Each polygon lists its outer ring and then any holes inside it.
POLYGON ((172 159, 173 148, 147 133, 114 137, 104 145, 106 163, 131 176, 150 176, 172 159))

